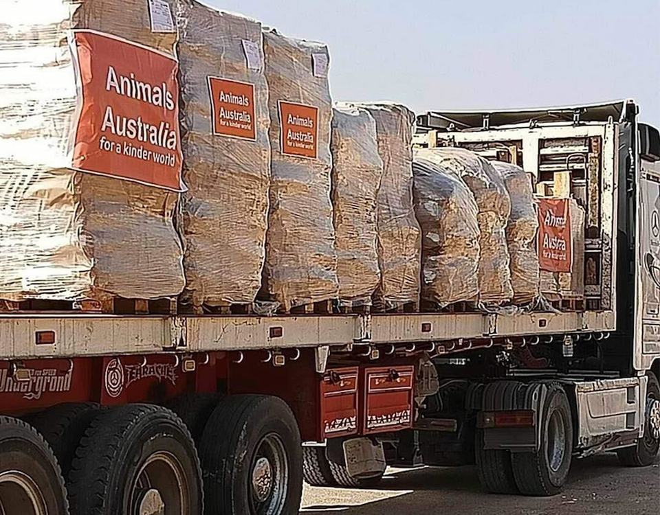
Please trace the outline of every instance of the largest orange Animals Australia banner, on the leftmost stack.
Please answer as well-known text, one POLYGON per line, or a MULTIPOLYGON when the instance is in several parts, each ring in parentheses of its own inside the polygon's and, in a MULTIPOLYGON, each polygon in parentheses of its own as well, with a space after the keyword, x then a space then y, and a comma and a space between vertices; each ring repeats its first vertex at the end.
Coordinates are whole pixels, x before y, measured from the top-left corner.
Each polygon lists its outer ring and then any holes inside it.
POLYGON ((177 60, 87 30, 73 45, 82 101, 72 167, 184 190, 177 60))

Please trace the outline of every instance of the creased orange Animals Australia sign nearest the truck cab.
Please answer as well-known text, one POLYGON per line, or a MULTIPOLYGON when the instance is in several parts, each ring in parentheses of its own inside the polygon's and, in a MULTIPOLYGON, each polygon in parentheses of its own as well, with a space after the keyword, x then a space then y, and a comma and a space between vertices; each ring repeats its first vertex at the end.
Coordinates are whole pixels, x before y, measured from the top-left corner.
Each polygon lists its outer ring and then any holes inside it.
POLYGON ((542 198, 538 203, 538 262, 542 270, 570 272, 573 264, 569 199, 542 198))

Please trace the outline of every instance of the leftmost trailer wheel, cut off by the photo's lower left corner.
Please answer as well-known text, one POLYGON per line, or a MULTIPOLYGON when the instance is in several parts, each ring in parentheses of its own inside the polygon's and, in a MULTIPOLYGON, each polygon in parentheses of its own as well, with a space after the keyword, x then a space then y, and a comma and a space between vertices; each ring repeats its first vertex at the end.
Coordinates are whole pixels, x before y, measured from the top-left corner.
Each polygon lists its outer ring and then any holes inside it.
POLYGON ((3 416, 0 416, 0 513, 69 513, 64 479, 48 444, 22 420, 3 416))

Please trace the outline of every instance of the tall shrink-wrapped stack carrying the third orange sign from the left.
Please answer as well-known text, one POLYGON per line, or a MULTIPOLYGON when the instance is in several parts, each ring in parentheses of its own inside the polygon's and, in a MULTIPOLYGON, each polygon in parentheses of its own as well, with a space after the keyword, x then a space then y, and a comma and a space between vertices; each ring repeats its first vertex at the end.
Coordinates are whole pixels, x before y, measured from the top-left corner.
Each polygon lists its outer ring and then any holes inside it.
POLYGON ((330 201, 332 100, 322 43, 263 33, 270 108, 265 293, 283 310, 336 299, 330 201))

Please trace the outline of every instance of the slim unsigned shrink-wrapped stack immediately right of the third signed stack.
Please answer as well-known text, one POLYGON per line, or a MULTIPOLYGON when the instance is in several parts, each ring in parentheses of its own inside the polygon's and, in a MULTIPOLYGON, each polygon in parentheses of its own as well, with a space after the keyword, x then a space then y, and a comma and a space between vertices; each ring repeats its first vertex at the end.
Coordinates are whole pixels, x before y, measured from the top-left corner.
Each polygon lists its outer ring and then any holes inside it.
POLYGON ((332 204, 340 304, 371 304, 380 282, 376 195, 383 176, 376 123, 364 108, 333 108, 332 204))

